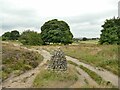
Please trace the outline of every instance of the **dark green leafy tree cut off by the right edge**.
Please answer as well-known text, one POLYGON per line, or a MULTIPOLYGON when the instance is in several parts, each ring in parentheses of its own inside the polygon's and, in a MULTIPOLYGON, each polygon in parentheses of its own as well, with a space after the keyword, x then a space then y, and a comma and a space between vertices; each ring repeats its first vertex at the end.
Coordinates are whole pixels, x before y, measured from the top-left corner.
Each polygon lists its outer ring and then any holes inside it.
POLYGON ((102 27, 100 44, 120 44, 120 18, 106 20, 102 27))

